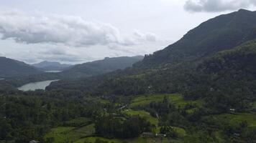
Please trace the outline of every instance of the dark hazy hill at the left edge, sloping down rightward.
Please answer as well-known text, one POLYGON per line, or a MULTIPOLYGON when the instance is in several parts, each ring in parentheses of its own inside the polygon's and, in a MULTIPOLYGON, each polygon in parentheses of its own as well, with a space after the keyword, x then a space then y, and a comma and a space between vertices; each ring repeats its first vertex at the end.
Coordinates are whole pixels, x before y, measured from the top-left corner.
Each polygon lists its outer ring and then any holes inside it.
POLYGON ((28 76, 32 74, 41 74, 42 71, 36 69, 22 61, 9 59, 0 56, 0 79, 6 77, 28 76))

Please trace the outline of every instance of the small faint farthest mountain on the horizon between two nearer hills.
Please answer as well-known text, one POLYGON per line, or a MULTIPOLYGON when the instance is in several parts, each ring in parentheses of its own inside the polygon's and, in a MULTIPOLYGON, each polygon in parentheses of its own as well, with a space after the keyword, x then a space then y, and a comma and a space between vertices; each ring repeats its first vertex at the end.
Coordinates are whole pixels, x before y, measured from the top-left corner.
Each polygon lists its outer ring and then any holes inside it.
POLYGON ((32 66, 35 66, 44 71, 63 71, 65 69, 68 69, 71 65, 70 64, 60 64, 57 61, 42 61, 38 64, 32 64, 32 66))

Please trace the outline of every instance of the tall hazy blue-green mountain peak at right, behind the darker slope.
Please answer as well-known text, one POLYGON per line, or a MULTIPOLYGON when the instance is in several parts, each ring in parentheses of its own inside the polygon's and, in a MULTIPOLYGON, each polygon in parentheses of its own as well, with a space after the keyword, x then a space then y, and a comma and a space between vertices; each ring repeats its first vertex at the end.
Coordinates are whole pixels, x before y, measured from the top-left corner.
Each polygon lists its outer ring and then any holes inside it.
POLYGON ((137 67, 156 68, 201 60, 218 51, 232 49, 256 37, 256 11, 240 9, 209 19, 188 31, 182 39, 145 56, 137 67))

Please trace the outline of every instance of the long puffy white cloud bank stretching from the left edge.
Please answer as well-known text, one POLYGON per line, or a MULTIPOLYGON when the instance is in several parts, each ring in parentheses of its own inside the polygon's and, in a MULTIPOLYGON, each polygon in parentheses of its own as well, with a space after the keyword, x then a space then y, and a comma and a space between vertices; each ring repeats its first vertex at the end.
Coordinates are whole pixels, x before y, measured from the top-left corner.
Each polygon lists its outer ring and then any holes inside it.
POLYGON ((65 44, 67 46, 132 45, 157 41, 151 33, 123 36, 111 24, 86 21, 80 16, 29 15, 22 11, 0 12, 1 39, 25 44, 65 44))

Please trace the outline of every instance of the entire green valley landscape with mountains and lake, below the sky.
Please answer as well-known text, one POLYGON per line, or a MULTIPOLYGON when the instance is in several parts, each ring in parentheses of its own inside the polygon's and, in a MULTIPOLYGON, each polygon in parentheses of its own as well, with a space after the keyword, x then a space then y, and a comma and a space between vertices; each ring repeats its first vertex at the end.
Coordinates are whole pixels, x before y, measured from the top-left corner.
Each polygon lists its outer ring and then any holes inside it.
POLYGON ((240 9, 145 56, 0 57, 0 143, 253 143, 255 32, 256 11, 240 9))

